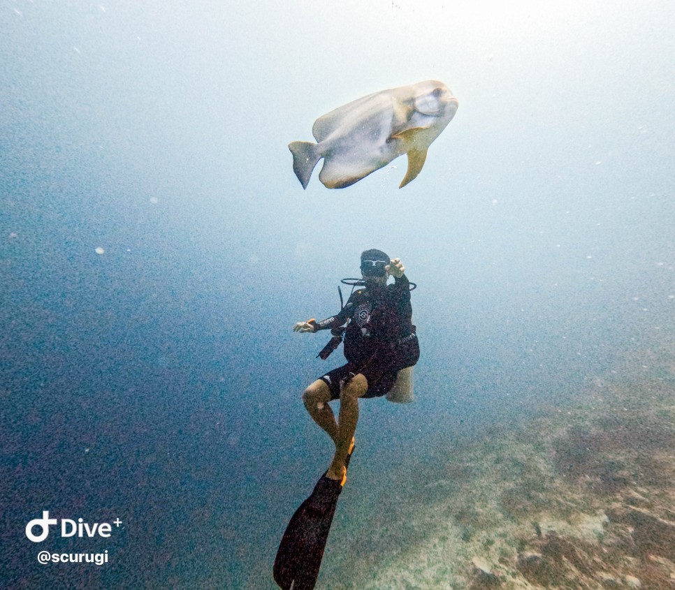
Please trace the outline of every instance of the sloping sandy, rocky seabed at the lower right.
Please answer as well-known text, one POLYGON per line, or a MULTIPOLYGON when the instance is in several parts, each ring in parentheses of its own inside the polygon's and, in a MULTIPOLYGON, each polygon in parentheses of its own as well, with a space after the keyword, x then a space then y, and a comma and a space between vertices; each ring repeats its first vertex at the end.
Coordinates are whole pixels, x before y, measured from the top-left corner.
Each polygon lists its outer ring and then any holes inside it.
POLYGON ((420 466, 331 539, 317 588, 674 590, 675 363, 615 369, 420 466))

